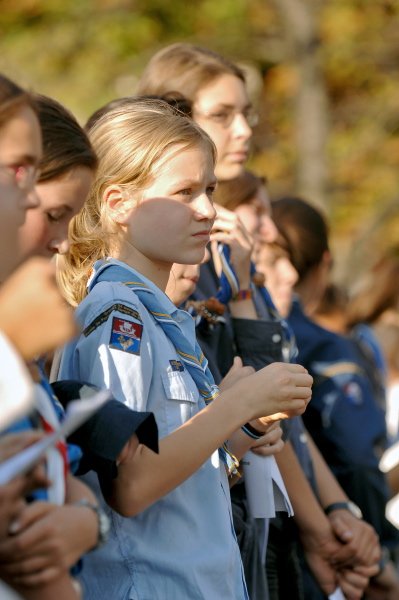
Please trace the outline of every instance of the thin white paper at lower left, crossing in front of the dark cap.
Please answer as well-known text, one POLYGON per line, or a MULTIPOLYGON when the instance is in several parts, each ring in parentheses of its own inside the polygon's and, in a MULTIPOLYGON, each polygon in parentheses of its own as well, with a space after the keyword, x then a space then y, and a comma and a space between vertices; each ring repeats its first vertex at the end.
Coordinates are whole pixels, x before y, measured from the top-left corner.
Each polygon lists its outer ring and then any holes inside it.
POLYGON ((25 448, 19 454, 12 456, 0 464, 0 485, 5 485, 17 475, 29 471, 50 446, 55 444, 60 438, 70 435, 110 398, 110 392, 102 390, 85 400, 79 399, 70 402, 65 412, 65 418, 57 431, 46 435, 39 442, 28 446, 28 448, 25 448))

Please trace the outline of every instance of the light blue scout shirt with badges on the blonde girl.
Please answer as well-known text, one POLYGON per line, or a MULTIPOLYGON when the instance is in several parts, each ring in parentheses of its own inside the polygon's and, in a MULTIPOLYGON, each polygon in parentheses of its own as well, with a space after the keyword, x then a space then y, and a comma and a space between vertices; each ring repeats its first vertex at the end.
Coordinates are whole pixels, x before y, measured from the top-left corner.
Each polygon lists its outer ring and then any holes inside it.
MULTIPOLYGON (((135 271, 130 270, 134 279, 135 271)), ((140 277, 156 293, 162 311, 194 342, 192 317, 140 277)), ((67 346, 60 379, 105 386, 130 408, 152 411, 160 438, 204 408, 174 346, 131 289, 119 282, 99 282, 80 304, 77 318, 83 334, 67 346)), ((107 511, 112 523, 110 539, 87 555, 82 574, 85 598, 248 598, 227 476, 217 451, 140 515, 123 518, 107 511)))

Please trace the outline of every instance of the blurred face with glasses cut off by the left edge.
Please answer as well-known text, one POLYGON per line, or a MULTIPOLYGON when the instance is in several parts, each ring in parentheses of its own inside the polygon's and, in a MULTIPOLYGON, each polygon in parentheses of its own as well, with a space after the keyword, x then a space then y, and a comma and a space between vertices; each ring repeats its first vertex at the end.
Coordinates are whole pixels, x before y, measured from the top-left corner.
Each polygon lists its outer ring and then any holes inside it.
POLYGON ((38 204, 33 190, 41 153, 39 121, 25 106, 0 129, 0 282, 21 259, 17 232, 26 210, 38 204))

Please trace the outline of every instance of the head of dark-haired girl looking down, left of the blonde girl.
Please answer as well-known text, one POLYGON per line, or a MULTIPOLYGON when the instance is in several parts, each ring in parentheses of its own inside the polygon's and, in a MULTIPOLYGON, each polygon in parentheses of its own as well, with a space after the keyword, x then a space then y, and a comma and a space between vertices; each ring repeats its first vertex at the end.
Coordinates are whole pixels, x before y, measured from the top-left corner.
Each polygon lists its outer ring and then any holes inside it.
POLYGON ((37 207, 29 210, 19 231, 19 245, 29 256, 50 257, 68 251, 68 225, 83 206, 97 157, 75 117, 56 100, 35 96, 43 136, 37 207))

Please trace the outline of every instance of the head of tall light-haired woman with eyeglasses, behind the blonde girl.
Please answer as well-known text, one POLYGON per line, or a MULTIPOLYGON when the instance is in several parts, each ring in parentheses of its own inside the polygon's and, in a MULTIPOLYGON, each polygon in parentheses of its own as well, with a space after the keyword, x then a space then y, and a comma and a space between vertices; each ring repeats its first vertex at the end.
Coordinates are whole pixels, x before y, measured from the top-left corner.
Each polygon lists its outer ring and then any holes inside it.
POLYGON ((152 57, 137 93, 183 94, 191 103, 193 119, 216 145, 217 179, 232 179, 242 172, 257 116, 237 65, 206 48, 173 44, 152 57))

